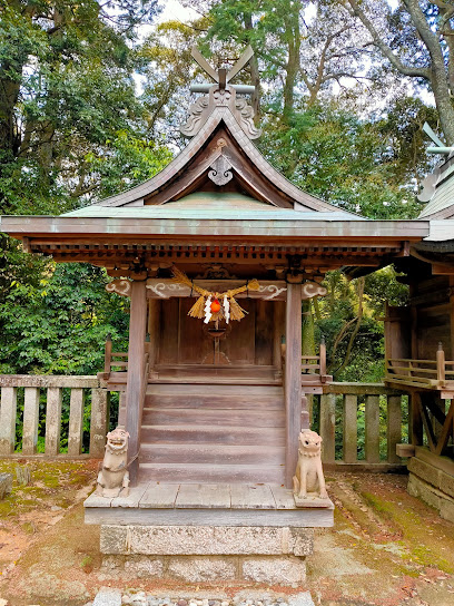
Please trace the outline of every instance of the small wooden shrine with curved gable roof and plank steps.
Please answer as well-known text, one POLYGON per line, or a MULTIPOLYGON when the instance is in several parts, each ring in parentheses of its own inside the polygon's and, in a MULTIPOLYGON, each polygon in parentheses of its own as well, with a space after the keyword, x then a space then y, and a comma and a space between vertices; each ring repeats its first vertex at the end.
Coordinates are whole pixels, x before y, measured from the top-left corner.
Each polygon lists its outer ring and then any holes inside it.
MULTIPOLYGON (((302 301, 325 294, 329 270, 405 260, 428 222, 367 221, 295 187, 253 144, 251 87, 231 84, 249 51, 230 71, 194 55, 213 84, 198 85, 190 141, 161 173, 58 217, 3 217, 2 231, 106 267, 108 290, 130 299, 129 350, 107 344, 103 381, 124 393, 136 488, 90 497, 88 522, 329 526, 332 506, 297 509, 289 490, 305 395, 330 380, 323 345, 302 358, 302 301)), ((114 553, 132 553, 130 532, 114 553)))

